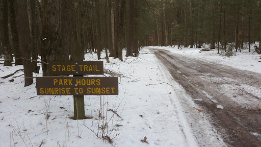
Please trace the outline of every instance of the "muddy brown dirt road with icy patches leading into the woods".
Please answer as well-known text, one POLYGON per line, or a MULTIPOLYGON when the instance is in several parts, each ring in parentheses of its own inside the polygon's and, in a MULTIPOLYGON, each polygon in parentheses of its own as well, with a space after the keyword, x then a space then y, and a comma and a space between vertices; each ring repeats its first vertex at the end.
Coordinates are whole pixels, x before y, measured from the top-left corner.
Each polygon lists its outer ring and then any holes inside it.
POLYGON ((261 74, 152 51, 210 116, 228 146, 261 146, 261 74))

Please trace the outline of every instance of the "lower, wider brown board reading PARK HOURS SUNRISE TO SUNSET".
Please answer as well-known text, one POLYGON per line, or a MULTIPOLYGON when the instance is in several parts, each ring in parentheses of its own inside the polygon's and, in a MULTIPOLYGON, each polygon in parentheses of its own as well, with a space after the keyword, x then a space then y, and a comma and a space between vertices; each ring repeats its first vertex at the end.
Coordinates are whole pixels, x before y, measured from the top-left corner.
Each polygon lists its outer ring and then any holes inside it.
POLYGON ((37 77, 37 95, 118 95, 118 77, 37 77))

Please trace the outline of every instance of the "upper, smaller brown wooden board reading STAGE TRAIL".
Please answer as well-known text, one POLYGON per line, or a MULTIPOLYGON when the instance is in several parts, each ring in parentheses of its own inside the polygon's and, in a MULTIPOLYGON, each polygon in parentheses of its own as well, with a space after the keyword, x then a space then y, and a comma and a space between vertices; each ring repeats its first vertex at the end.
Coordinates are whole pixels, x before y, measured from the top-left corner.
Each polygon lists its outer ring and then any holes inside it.
POLYGON ((103 61, 49 61, 51 76, 103 75, 103 61))

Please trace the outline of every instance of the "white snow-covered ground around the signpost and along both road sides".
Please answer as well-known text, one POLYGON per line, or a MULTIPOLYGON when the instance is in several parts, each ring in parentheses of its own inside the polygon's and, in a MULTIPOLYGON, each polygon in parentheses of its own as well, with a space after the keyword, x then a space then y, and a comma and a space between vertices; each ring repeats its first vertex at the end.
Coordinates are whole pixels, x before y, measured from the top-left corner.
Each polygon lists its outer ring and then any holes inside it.
MULTIPOLYGON (((41 142, 41 146, 225 146, 199 110, 188 114, 190 108, 182 107, 184 100, 179 97, 189 98, 188 94, 175 79, 171 79, 149 48, 162 48, 261 73, 260 55, 246 50, 228 58, 217 55, 217 51, 200 52, 198 48, 144 47, 138 57, 123 57, 123 61, 110 58, 110 63, 102 59, 104 68, 119 76, 119 95, 85 95, 85 115, 91 119, 73 120, 69 118, 73 117, 73 96, 36 95, 35 83, 23 87, 23 78, 14 78, 23 74, 18 71, 14 76, 0 79, 0 146, 39 146, 41 142), (14 82, 9 82, 11 79, 14 82), (104 104, 101 109, 100 100, 104 104), (117 111, 119 116, 109 109, 117 111), (99 117, 99 110, 104 117, 99 117), (46 114, 49 114, 48 119, 46 114), (189 115, 194 114, 199 115, 195 124, 201 124, 205 129, 204 137, 195 132, 197 125, 191 124, 189 115), (108 135, 113 143, 101 138, 103 127, 105 131, 109 130, 105 136, 108 135)), ((101 57, 105 57, 105 53, 101 57)), ((85 54, 86 60, 96 58, 96 54, 85 54)), ((7 67, 0 64, 0 77, 21 68, 21 65, 7 67)), ((41 73, 34 74, 34 77, 41 76, 41 73)), ((192 100, 186 101, 195 106, 192 100)))

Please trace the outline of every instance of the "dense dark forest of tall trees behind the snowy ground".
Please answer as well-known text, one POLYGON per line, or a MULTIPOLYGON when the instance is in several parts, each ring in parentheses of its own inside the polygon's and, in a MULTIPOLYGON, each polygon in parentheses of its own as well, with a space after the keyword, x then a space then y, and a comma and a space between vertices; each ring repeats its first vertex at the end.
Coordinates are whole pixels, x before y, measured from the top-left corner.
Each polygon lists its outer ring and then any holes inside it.
POLYGON ((38 62, 48 76, 49 61, 84 54, 123 60, 141 46, 203 44, 218 53, 250 52, 261 40, 258 0, 1 0, 0 9, 0 55, 4 66, 23 64, 24 86, 38 62))

